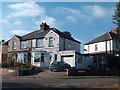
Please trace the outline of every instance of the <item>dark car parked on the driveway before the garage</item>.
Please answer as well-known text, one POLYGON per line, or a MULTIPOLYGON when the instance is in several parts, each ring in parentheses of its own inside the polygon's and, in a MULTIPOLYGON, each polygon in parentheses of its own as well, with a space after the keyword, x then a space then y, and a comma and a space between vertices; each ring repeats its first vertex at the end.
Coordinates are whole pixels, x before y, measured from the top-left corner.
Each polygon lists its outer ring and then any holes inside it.
POLYGON ((64 61, 53 61, 49 66, 50 71, 63 71, 70 68, 70 65, 64 61))

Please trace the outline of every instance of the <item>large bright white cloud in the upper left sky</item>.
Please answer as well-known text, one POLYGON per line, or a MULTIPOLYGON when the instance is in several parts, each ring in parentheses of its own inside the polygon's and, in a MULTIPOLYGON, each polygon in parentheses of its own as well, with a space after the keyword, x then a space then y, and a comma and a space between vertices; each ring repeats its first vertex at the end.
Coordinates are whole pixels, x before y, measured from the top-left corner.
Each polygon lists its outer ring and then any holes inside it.
POLYGON ((35 2, 15 3, 8 6, 13 9, 7 17, 35 17, 45 14, 45 9, 35 2))

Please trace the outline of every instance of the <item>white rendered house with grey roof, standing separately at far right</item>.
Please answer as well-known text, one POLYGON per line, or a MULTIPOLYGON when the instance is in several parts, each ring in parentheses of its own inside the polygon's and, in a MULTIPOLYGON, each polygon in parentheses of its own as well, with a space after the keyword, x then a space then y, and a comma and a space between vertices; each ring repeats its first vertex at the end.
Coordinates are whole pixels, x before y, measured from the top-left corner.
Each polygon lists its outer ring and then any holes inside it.
POLYGON ((111 30, 96 39, 84 44, 84 54, 119 55, 120 43, 117 42, 117 30, 111 30))

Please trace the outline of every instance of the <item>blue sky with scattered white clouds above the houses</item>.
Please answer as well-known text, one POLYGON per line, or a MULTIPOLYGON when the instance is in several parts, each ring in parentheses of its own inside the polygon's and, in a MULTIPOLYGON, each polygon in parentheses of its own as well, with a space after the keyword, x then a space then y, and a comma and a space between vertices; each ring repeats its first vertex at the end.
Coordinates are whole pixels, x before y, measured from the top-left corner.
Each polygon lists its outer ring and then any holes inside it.
POLYGON ((69 31, 83 44, 110 31, 115 2, 2 2, 0 37, 10 39, 38 30, 41 22, 69 31))

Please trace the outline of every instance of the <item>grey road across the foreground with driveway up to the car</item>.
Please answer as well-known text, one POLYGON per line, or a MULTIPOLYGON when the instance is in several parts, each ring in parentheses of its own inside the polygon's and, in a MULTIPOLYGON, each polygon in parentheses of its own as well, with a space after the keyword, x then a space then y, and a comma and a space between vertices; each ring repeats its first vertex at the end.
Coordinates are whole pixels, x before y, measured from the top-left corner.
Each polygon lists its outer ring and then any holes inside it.
POLYGON ((2 88, 119 88, 118 78, 60 79, 66 72, 45 70, 37 75, 2 77, 2 88))

